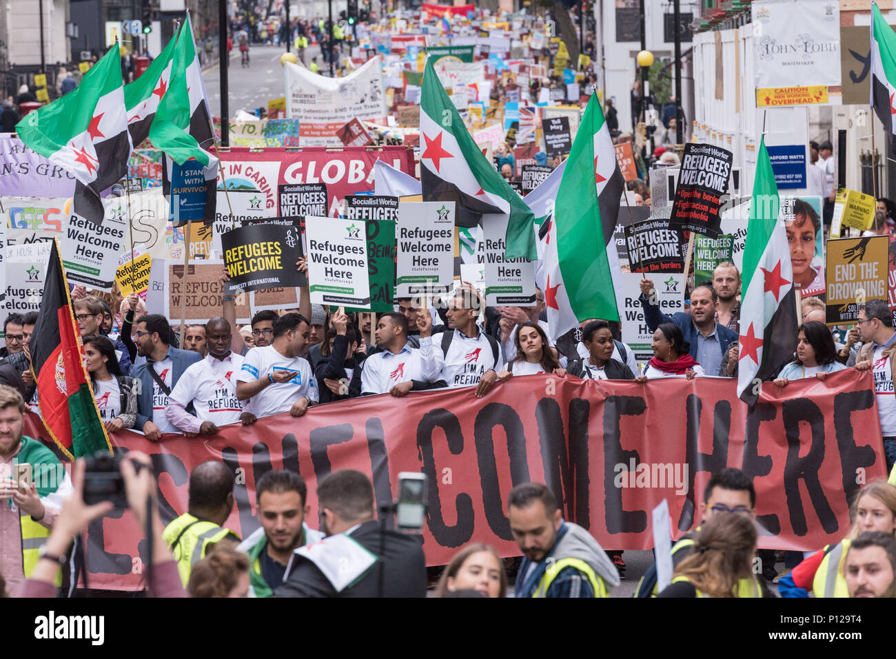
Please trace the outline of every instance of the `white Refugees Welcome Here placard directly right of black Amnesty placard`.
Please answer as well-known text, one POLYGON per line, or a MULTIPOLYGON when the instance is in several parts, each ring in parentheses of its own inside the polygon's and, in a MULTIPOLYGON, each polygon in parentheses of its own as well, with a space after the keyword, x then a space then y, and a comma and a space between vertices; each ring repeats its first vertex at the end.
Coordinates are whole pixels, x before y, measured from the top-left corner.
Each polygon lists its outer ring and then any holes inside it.
POLYGON ((366 221, 309 217, 305 235, 311 303, 369 309, 366 221))

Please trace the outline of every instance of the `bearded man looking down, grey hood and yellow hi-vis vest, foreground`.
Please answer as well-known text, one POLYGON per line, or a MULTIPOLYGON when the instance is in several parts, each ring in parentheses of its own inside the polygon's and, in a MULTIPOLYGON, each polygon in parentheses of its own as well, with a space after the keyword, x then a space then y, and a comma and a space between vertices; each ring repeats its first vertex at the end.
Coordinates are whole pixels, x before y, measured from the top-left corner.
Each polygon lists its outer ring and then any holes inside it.
POLYGON ((510 492, 508 518, 524 554, 517 597, 608 597, 619 585, 616 567, 590 533, 564 521, 547 485, 523 483, 510 492))

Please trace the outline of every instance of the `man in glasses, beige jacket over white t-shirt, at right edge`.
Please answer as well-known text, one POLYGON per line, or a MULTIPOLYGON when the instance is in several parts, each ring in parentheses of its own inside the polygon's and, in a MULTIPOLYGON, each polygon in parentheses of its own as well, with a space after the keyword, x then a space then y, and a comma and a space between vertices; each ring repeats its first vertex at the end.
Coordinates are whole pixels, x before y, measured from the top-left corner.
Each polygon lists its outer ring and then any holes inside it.
POLYGON ((857 371, 874 372, 877 414, 881 419, 883 451, 887 473, 896 462, 896 395, 893 392, 893 356, 896 355, 896 330, 890 305, 883 300, 868 300, 858 307, 856 321, 863 346, 858 351, 857 371))

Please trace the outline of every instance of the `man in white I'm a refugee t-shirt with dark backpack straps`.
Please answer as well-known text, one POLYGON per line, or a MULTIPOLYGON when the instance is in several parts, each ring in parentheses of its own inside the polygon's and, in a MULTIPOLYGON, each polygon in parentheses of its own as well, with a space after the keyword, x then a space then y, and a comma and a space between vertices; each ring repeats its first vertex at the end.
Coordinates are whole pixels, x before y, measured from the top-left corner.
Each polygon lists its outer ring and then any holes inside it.
POLYGON ((476 288, 461 286, 448 303, 448 327, 433 337, 433 352, 442 364, 442 380, 448 387, 476 387, 482 398, 504 370, 501 347, 495 337, 479 329, 477 319, 483 300, 476 288))

